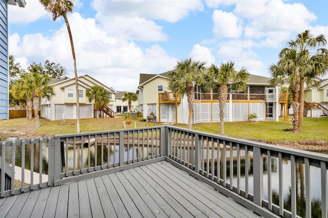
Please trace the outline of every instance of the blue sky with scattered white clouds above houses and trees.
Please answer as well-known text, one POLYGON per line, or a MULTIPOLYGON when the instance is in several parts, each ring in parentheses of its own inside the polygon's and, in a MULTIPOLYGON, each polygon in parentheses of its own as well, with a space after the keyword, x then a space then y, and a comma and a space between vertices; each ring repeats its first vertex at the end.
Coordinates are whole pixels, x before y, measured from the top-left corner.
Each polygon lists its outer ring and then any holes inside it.
MULTIPOLYGON (((9 53, 16 61, 27 68, 48 59, 73 77, 64 19, 53 21, 38 0, 8 11, 9 53)), ((187 58, 234 61, 237 70, 270 77, 270 64, 298 33, 309 29, 328 38, 326 0, 79 0, 68 19, 78 75, 118 91, 135 92, 140 73, 163 73, 187 58)))

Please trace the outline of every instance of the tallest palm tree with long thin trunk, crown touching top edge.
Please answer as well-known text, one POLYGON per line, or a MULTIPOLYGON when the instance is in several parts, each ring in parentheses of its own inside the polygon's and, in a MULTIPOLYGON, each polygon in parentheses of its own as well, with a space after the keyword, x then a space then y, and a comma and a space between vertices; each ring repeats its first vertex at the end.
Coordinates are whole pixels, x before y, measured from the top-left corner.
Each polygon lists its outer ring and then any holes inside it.
POLYGON ((56 20, 58 17, 64 17, 65 20, 68 35, 70 37, 73 62, 74 62, 75 90, 76 90, 76 132, 79 133, 80 132, 80 106, 79 106, 79 99, 78 99, 76 58, 75 58, 72 32, 67 19, 67 13, 68 12, 71 13, 73 11, 74 1, 73 0, 39 0, 39 2, 45 7, 47 11, 52 13, 53 20, 56 20))

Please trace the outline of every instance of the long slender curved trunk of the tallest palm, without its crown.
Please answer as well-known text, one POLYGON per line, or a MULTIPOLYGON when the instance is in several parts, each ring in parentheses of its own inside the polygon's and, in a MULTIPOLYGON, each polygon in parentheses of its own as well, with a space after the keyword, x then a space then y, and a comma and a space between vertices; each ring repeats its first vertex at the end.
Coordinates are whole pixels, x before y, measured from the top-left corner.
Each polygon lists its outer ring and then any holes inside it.
POLYGON ((80 105, 79 105, 79 99, 78 99, 78 81, 77 81, 77 70, 76 70, 76 58, 75 58, 75 51, 74 51, 74 44, 73 44, 73 37, 70 25, 68 23, 68 19, 66 14, 63 14, 63 17, 65 19, 68 35, 70 37, 71 41, 71 48, 72 48, 72 55, 73 55, 73 61, 74 61, 74 76, 75 76, 75 89, 76 89, 76 133, 80 132, 80 105))

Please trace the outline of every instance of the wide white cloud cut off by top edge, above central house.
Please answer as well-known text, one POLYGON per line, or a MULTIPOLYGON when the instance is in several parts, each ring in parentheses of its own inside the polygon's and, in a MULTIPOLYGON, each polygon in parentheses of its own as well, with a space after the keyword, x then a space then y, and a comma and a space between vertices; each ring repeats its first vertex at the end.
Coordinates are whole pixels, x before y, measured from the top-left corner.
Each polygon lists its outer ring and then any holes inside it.
POLYGON ((161 19, 171 23, 187 17, 193 11, 202 11, 200 0, 166 1, 109 1, 95 0, 92 4, 97 16, 144 17, 161 19))

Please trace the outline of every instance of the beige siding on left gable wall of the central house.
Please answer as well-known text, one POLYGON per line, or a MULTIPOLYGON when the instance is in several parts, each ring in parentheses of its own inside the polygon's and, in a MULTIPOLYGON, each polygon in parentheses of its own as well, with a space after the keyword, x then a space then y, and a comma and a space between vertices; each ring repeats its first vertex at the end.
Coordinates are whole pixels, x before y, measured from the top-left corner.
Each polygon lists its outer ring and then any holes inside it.
MULTIPOLYGON (((144 103, 154 104, 158 103, 158 85, 168 87, 168 79, 157 77, 144 85, 144 103)), ((169 92, 169 90, 168 90, 169 92)))

